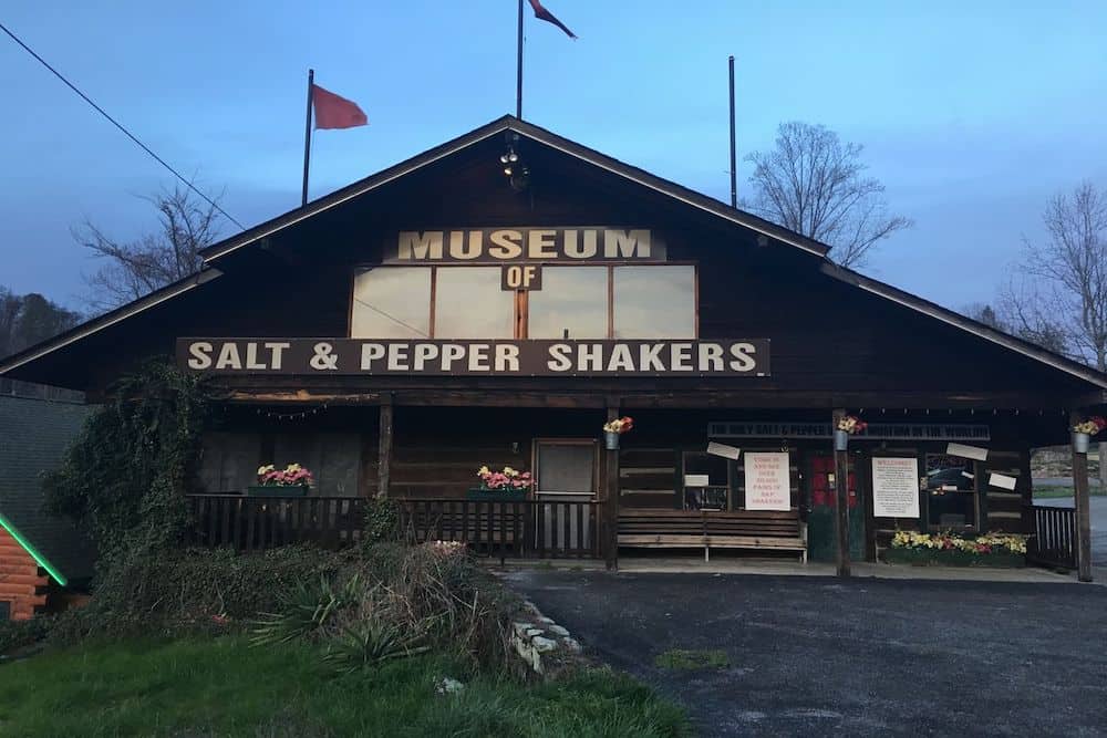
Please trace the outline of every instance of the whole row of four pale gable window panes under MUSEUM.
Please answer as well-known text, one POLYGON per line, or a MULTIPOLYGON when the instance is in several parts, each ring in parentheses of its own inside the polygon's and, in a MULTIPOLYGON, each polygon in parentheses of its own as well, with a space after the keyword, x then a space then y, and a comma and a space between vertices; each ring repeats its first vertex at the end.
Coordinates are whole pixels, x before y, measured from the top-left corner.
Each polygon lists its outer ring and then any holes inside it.
POLYGON ((695 339, 691 264, 541 267, 541 289, 501 289, 501 267, 363 269, 354 339, 695 339))

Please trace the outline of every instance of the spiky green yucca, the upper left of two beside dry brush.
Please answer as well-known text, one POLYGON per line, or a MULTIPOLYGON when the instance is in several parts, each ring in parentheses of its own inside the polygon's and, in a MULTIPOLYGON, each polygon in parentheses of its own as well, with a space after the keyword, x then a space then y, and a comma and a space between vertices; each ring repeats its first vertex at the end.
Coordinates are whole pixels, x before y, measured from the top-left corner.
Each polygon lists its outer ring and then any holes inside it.
POLYGON ((318 582, 301 582, 284 600, 280 612, 260 613, 251 623, 250 643, 266 646, 319 633, 338 613, 361 602, 364 593, 360 584, 356 574, 340 588, 327 576, 320 576, 318 582))

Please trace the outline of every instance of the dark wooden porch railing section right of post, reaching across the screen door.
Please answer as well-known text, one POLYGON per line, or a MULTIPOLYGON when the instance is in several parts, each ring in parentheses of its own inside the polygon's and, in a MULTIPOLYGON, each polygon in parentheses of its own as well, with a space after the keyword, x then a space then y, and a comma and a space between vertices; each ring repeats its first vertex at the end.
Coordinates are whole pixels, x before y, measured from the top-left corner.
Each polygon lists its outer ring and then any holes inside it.
POLYGON ((600 502, 497 502, 401 499, 403 529, 415 542, 457 541, 478 554, 504 559, 602 555, 600 502))

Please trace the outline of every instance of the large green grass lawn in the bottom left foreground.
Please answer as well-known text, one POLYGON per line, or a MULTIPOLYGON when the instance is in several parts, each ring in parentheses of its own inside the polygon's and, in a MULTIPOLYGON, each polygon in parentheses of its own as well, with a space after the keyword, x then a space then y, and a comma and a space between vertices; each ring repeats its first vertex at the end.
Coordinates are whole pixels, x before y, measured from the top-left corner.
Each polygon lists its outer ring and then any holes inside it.
POLYGON ((420 656, 334 676, 302 642, 123 641, 0 666, 10 736, 681 736, 683 711, 607 669, 527 686, 420 656), (435 695, 452 676, 455 696, 435 695))

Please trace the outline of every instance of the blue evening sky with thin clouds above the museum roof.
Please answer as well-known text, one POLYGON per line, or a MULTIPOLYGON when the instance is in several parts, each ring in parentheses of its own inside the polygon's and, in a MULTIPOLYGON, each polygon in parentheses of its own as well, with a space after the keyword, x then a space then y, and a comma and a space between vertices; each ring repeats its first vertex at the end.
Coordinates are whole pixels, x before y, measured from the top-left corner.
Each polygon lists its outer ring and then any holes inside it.
MULTIPOLYGON (((867 271, 953 308, 993 297, 1052 194, 1107 187, 1101 0, 546 6, 580 40, 528 11, 525 117, 726 199, 733 53, 739 153, 792 119, 863 144, 915 221, 867 271)), ((371 124, 318 134, 312 197, 515 107, 514 0, 7 0, 0 21, 247 226, 299 204, 309 66, 371 124)), ((81 306, 71 227, 136 237, 136 195, 172 178, 7 37, 0 95, 0 285, 81 306)))

